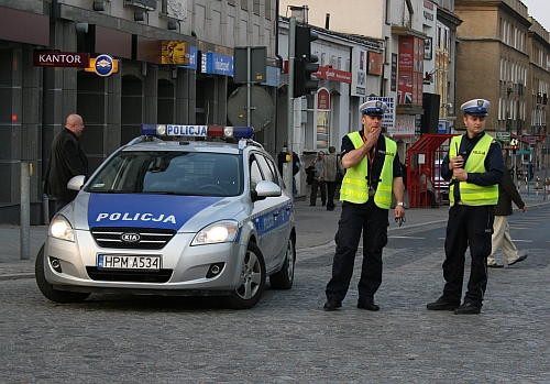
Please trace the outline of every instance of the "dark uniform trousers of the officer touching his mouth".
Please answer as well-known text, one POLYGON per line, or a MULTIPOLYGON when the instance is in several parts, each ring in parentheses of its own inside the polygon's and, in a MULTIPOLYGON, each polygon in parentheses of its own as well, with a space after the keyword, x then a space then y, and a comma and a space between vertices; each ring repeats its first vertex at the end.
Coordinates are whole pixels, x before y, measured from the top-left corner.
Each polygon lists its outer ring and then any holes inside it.
POLYGON ((382 250, 387 244, 387 209, 365 204, 342 204, 342 215, 334 237, 337 251, 332 263, 332 278, 327 284, 327 298, 343 300, 353 274, 361 232, 363 232, 363 266, 359 282, 359 298, 373 298, 382 284, 382 250))

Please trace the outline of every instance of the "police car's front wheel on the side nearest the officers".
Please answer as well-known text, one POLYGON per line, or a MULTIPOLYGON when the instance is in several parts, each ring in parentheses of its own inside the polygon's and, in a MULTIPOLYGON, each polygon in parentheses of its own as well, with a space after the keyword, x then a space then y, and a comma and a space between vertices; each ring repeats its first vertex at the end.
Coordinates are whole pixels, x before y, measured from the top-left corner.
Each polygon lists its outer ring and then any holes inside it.
POLYGON ((254 307, 265 288, 265 261, 260 248, 249 243, 246 254, 241 266, 241 283, 223 301, 229 308, 250 309, 254 307))

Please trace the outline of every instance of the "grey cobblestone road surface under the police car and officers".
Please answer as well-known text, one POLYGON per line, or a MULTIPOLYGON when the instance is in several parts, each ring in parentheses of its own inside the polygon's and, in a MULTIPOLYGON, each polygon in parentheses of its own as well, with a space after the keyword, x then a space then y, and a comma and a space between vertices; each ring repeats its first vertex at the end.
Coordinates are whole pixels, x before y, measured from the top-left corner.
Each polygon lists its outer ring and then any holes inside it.
POLYGON ((442 251, 386 249, 378 312, 324 312, 332 248, 298 254, 290 290, 251 310, 212 298, 94 295, 46 300, 33 279, 0 282, 0 383, 550 383, 546 250, 491 270, 482 314, 428 311, 442 251))

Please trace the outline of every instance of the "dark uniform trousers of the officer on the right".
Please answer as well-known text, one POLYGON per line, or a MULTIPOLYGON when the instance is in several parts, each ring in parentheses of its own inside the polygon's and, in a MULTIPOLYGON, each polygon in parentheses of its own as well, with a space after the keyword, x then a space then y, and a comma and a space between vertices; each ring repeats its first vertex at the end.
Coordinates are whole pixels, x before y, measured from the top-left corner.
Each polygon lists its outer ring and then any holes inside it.
POLYGON ((464 254, 470 245, 472 257, 468 292, 464 303, 481 308, 487 287, 487 256, 491 254, 491 237, 495 220, 494 206, 454 205, 449 210, 446 238, 443 300, 460 304, 464 279, 464 254))

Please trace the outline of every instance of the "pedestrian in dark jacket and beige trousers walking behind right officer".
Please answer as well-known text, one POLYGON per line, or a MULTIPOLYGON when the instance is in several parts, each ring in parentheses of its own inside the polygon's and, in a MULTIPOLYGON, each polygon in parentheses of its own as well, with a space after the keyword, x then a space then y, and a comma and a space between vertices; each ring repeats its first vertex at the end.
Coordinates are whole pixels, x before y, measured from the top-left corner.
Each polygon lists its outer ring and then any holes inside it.
MULTIPOLYGON (((505 154, 506 151, 503 150, 503 157, 505 154)), ((501 246, 503 248, 508 265, 514 265, 527 259, 526 254, 521 256, 518 255, 517 248, 512 242, 510 227, 508 226, 508 216, 513 213, 512 201, 514 201, 524 212, 527 211, 527 206, 524 200, 521 200, 521 196, 519 196, 514 185, 514 180, 510 177, 510 173, 505 165, 504 179, 503 183, 498 185, 498 202, 495 206, 495 223, 493 224, 494 232, 491 240, 491 254, 487 256, 487 266, 493 268, 504 266, 503 264, 497 264, 495 260, 495 252, 501 246)))

